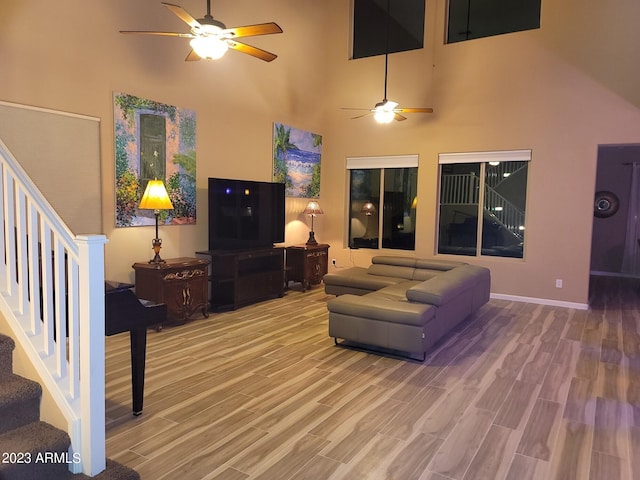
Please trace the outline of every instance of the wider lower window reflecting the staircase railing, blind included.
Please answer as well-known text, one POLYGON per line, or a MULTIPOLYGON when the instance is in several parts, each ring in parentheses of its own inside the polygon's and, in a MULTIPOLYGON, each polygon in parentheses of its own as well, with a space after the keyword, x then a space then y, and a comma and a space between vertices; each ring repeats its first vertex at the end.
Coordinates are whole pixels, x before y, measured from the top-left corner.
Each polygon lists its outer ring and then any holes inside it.
POLYGON ((440 155, 438 253, 523 258, 530 160, 531 150, 440 155))

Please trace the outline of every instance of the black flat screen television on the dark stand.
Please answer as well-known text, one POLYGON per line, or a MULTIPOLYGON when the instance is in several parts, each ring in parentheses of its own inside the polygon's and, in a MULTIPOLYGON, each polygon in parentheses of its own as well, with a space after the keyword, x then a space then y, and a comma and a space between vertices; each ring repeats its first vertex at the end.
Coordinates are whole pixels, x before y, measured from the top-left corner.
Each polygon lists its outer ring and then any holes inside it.
POLYGON ((209 250, 284 242, 284 184, 209 178, 209 250))

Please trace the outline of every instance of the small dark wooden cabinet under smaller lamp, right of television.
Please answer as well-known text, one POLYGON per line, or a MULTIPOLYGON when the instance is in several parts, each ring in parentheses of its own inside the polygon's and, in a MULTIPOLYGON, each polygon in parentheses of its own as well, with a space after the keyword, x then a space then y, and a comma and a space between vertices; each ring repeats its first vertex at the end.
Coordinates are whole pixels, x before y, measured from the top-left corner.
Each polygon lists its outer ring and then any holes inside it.
POLYGON ((287 247, 287 283, 300 282, 302 290, 319 285, 327 273, 329 245, 292 245, 287 247))

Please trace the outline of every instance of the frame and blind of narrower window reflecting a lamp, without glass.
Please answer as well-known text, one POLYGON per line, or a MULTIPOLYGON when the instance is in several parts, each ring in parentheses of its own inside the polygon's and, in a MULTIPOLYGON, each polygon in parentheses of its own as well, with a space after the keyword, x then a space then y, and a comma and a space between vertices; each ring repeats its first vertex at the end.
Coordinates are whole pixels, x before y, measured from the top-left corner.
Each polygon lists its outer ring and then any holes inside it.
MULTIPOLYGON (((416 192, 415 196, 417 199, 418 195, 418 164, 419 157, 418 155, 390 155, 390 156, 370 156, 370 157, 347 157, 346 159, 346 170, 347 170, 347 202, 346 202, 346 245, 350 249, 359 249, 359 248, 367 248, 372 250, 405 250, 405 251, 415 251, 415 232, 417 225, 417 214, 414 214, 415 224, 412 225, 413 235, 414 235, 414 244, 413 248, 400 248, 400 247, 385 247, 384 244, 384 208, 379 208, 381 205, 384 206, 385 199, 385 170, 391 169, 404 169, 404 168, 415 168, 416 169, 416 192), (380 174, 380 184, 379 184, 379 205, 377 208, 377 224, 378 224, 378 236, 377 236, 377 246, 354 246, 351 238, 352 231, 352 198, 351 198, 351 171, 352 170, 379 170, 380 174)), ((414 201, 414 203, 417 203, 414 201)), ((413 206, 417 212, 417 205, 413 206)))

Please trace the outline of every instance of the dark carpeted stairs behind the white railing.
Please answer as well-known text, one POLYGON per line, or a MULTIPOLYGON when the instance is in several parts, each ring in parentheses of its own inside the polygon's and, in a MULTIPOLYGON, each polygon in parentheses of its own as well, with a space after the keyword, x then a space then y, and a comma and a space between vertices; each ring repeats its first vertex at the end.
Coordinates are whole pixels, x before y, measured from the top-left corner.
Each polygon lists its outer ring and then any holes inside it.
POLYGON ((107 460, 94 477, 72 474, 71 440, 66 432, 40 421, 42 387, 13 373, 12 338, 0 335, 0 479, 134 480, 133 470, 107 460))

